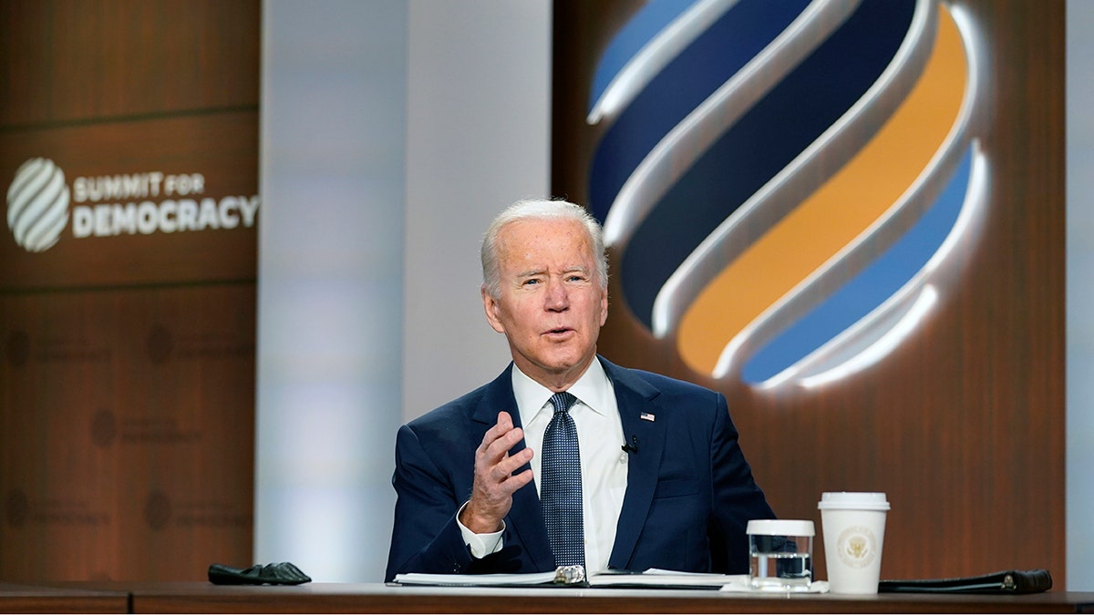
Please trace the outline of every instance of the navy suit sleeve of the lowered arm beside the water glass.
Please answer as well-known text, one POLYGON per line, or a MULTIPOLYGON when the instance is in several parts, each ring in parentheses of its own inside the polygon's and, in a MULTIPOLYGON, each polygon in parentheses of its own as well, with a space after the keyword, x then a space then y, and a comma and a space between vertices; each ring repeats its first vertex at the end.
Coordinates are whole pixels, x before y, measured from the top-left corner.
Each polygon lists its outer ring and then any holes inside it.
POLYGON ((764 491, 738 443, 725 397, 718 394, 718 411, 711 438, 713 508, 709 524, 711 568, 715 572, 748 572, 748 536, 752 519, 775 519, 764 491))

